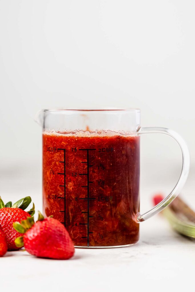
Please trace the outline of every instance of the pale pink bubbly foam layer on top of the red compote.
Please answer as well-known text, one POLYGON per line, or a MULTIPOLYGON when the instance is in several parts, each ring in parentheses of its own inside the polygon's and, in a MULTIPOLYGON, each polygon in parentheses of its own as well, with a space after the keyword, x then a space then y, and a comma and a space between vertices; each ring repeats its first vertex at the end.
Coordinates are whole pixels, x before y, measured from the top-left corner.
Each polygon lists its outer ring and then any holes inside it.
POLYGON ((75 130, 75 131, 44 131, 43 135, 55 135, 55 136, 77 136, 77 137, 113 137, 113 136, 137 136, 137 133, 128 131, 111 131, 111 130, 75 130))

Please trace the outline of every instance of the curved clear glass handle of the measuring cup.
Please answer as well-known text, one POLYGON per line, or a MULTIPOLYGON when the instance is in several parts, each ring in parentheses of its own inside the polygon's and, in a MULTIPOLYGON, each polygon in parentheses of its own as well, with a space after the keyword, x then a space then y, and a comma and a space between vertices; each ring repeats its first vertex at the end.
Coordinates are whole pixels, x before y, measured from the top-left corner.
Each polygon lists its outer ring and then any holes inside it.
POLYGON ((189 150, 187 147, 186 142, 183 140, 183 138, 177 134, 175 131, 172 131, 168 128, 159 128, 159 127, 149 127, 149 128, 139 128, 137 133, 139 135, 141 134, 150 134, 150 133, 160 133, 160 134, 166 134, 174 138, 177 143, 180 145, 180 148, 182 150, 182 158, 183 158, 183 164, 182 164, 182 171, 180 174, 180 178, 177 181, 177 184, 175 185, 174 189, 172 192, 163 200, 161 201, 158 205, 153 207, 151 210, 144 214, 137 213, 135 215, 135 221, 137 223, 140 223, 142 221, 145 221, 146 219, 152 217, 153 215, 159 213, 162 211, 165 207, 167 207, 180 193, 182 190, 182 187, 184 186, 188 173, 189 173, 189 167, 190 167, 190 155, 189 155, 189 150))

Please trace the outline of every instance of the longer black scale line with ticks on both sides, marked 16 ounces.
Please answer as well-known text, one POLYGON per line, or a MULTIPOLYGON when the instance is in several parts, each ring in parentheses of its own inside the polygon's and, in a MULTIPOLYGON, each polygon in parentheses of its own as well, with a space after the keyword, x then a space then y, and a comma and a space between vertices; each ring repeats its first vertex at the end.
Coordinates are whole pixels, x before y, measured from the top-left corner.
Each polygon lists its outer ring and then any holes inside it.
POLYGON ((80 200, 86 200, 87 199, 87 246, 89 246, 89 201, 90 200, 95 200, 96 198, 90 198, 89 197, 89 183, 92 183, 90 180, 89 180, 89 167, 93 166, 91 164, 89 164, 89 151, 91 150, 96 150, 96 149, 79 149, 81 151, 87 151, 87 162, 81 162, 81 163, 87 163, 87 186, 82 186, 82 187, 87 187, 87 198, 80 198, 80 200))

